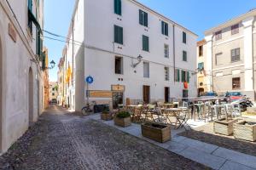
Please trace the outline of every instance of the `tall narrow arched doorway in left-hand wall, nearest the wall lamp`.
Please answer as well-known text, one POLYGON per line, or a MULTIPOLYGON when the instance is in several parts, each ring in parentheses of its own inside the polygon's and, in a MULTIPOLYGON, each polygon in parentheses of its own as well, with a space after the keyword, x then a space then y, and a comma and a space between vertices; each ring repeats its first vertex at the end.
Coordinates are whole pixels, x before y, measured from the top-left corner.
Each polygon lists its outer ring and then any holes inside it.
POLYGON ((30 125, 33 122, 33 73, 31 67, 28 71, 28 114, 30 125))

